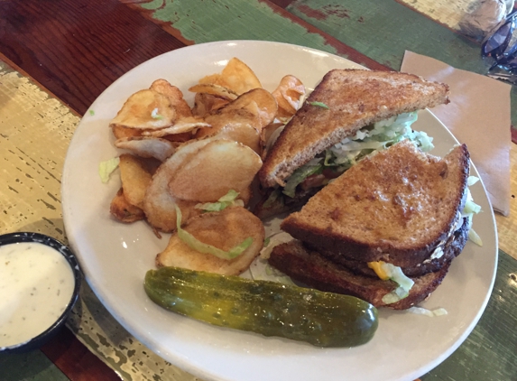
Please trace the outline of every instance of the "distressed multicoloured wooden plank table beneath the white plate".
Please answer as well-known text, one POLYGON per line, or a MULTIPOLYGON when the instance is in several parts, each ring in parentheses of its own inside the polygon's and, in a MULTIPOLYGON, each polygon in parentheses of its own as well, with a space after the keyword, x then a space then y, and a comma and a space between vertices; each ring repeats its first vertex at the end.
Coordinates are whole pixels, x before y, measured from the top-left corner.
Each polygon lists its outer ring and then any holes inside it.
MULTIPOLYGON (((329 51, 370 69, 399 70, 403 51, 410 50, 485 73, 479 43, 457 32, 459 15, 473 4, 0 0, 0 233, 32 230, 66 240, 60 175, 69 139, 98 95, 145 60, 195 43, 253 39, 329 51)), ((515 86, 512 106, 516 125, 515 86)), ((512 194, 516 179, 513 145, 512 194)), ((517 379, 513 196, 510 217, 496 219, 499 267, 485 314, 465 343, 422 379, 517 379)), ((40 350, 0 355, 0 379, 195 379, 135 342, 86 283, 79 307, 82 314, 70 317, 69 329, 40 350)))

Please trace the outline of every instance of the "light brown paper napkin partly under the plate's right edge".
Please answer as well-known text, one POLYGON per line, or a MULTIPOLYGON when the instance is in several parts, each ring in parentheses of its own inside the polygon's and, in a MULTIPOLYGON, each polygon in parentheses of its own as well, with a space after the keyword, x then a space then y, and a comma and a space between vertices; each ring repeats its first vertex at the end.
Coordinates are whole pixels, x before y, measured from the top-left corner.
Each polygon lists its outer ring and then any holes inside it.
POLYGON ((448 84, 450 103, 433 107, 431 111, 459 142, 467 145, 492 207, 508 216, 511 86, 412 51, 405 52, 401 71, 448 84))

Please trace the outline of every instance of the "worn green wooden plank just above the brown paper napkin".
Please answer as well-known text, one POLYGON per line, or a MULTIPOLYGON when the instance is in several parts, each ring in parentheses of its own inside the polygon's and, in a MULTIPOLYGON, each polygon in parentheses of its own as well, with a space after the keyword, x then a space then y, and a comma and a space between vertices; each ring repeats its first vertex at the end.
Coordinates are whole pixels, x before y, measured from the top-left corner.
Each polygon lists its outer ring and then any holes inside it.
POLYGON ((354 0, 299 0, 287 10, 394 70, 406 50, 459 69, 485 70, 479 45, 394 0, 375 6, 354 0))

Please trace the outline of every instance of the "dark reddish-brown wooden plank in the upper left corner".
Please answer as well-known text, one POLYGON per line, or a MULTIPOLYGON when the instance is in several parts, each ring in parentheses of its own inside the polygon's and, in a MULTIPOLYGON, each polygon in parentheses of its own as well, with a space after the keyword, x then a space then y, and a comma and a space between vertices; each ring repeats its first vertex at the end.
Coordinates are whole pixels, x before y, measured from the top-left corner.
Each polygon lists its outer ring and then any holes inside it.
POLYGON ((136 65, 185 46, 117 0, 4 0, 0 51, 80 115, 136 65))

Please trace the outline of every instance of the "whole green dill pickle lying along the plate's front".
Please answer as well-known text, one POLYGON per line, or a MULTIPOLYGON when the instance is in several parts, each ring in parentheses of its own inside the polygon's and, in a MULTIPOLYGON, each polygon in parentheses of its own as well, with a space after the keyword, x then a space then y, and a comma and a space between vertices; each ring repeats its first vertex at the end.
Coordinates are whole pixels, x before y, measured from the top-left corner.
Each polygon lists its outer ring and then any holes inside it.
POLYGON ((199 321, 318 347, 365 344, 378 325, 368 302, 282 283, 162 267, 143 286, 153 302, 199 321))

